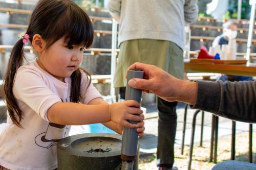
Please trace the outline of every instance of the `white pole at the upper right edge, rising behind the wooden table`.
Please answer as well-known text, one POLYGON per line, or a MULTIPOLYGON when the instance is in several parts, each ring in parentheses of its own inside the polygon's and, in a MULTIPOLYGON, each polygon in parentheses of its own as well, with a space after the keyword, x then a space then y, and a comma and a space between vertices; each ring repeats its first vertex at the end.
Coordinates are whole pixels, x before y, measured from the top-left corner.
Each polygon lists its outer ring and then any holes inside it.
POLYGON ((250 25, 249 25, 249 31, 248 31, 247 51, 246 51, 246 60, 248 62, 250 62, 251 39, 252 39, 252 32, 254 27, 255 0, 250 1, 250 4, 251 4, 251 16, 250 16, 250 25))

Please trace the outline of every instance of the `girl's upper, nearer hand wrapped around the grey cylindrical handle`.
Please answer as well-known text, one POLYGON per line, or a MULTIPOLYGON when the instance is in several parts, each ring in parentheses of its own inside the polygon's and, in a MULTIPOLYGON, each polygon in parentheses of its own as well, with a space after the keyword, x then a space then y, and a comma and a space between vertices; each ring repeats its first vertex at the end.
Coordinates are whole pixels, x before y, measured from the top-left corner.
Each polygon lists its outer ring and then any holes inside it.
POLYGON ((139 109, 139 107, 139 102, 134 100, 111 104, 109 105, 110 118, 113 122, 121 124, 122 126, 125 126, 127 128, 138 128, 137 132, 139 131, 138 133, 141 133, 144 131, 142 129, 144 123, 143 125, 141 125, 144 116, 141 115, 143 111, 139 109), (127 120, 134 120, 140 123, 131 124, 127 120))

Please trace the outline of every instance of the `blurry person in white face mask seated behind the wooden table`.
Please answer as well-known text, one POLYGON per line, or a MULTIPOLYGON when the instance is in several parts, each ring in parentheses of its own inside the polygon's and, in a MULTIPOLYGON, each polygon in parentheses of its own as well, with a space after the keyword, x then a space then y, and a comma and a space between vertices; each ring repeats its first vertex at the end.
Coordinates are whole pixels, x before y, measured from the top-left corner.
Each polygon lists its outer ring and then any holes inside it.
MULTIPOLYGON (((212 42, 212 46, 228 44, 229 39, 234 39, 238 34, 238 25, 237 22, 229 20, 222 25, 223 34, 219 35, 215 38, 214 42, 212 42)), ((223 82, 229 81, 248 81, 252 80, 252 77, 248 76, 234 76, 234 75, 222 75, 218 78, 218 80, 222 80, 223 82)))

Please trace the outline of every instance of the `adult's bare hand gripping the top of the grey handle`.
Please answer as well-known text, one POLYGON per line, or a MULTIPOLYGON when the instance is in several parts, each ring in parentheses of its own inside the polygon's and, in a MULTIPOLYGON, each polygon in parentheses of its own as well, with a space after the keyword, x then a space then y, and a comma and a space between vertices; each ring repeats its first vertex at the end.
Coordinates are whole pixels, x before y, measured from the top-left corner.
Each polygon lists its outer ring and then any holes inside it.
POLYGON ((196 101, 196 82, 179 80, 155 65, 134 63, 128 69, 144 71, 144 79, 132 79, 129 85, 142 89, 144 92, 152 91, 160 98, 169 101, 181 101, 194 104, 196 101))

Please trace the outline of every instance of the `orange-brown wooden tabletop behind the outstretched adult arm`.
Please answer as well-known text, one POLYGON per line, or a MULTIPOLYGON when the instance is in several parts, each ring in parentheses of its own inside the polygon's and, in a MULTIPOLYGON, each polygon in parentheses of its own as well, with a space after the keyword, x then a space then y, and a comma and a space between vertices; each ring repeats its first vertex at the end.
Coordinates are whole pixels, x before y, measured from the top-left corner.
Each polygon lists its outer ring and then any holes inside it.
POLYGON ((256 67, 245 64, 214 64, 184 62, 186 72, 215 72, 226 75, 256 76, 256 67))

